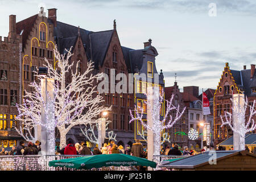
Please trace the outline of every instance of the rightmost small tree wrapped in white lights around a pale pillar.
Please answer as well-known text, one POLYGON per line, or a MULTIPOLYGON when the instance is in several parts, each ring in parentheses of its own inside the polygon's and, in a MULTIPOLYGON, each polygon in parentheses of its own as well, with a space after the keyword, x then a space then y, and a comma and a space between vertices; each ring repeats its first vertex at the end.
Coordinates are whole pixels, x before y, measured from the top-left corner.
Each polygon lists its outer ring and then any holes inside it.
POLYGON ((245 134, 256 129, 256 124, 253 119, 256 114, 255 111, 255 100, 253 104, 250 105, 248 99, 243 97, 243 94, 238 95, 238 99, 233 96, 230 100, 233 103, 232 113, 225 111, 224 116, 221 115, 222 126, 228 125, 230 129, 234 132, 234 150, 245 150, 245 134), (242 96, 241 96, 242 95, 242 96), (242 98, 242 101, 240 100, 242 98), (242 104, 241 104, 242 103, 242 104), (249 108, 249 118, 246 121, 246 110, 249 108), (232 115, 233 114, 233 115, 232 115), (239 146, 236 148, 236 134, 238 134, 237 140, 239 141, 239 146))

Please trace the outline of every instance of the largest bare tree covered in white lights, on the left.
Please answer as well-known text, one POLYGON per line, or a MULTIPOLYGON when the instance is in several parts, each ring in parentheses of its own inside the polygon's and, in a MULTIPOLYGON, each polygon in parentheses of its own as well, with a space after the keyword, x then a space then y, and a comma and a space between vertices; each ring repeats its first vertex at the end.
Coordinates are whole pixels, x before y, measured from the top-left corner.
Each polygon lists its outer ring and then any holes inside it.
MULTIPOLYGON (((44 67, 48 68, 47 78, 55 80, 53 87, 55 96, 51 99, 47 95, 48 104, 54 104, 54 110, 47 110, 44 103, 40 83, 32 82, 30 86, 34 92, 27 92, 22 105, 17 105, 19 115, 16 117, 22 125, 28 125, 27 128, 35 127, 36 125, 44 126, 48 130, 53 130, 55 127, 60 132, 60 146, 63 147, 66 143, 65 136, 73 126, 84 125, 96 121, 96 118, 104 110, 110 110, 110 107, 104 107, 101 102, 104 98, 97 93, 95 82, 101 78, 102 73, 93 74, 93 62, 89 61, 84 73, 79 72, 79 61, 76 64, 75 72, 73 72, 73 64, 70 63, 72 47, 67 53, 61 55, 54 49, 54 55, 57 60, 56 69, 49 63, 47 59, 44 67), (71 80, 67 81, 68 75, 71 75, 71 80), (41 121, 41 106, 46 113, 53 112, 55 118, 53 121, 47 121, 49 125, 44 125, 41 121), (50 125, 51 123, 51 125, 50 125)), ((44 78, 41 75, 36 76, 39 79, 44 78)), ((20 134, 23 133, 22 128, 16 129, 20 134)), ((22 135, 23 137, 24 134, 22 135)), ((55 138, 55 137, 54 137, 55 138)), ((26 138, 25 138, 26 139, 26 138)))

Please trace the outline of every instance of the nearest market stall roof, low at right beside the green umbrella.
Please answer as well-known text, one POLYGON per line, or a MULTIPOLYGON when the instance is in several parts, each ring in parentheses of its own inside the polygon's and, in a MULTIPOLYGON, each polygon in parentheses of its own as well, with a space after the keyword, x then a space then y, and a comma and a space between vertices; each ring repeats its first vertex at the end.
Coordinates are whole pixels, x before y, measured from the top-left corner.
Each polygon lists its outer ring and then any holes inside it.
MULTIPOLYGON (((250 155, 254 156, 256 158, 256 155, 251 154, 247 151, 236 151, 236 150, 228 150, 228 151, 214 151, 216 152, 216 160, 218 163, 218 160, 229 158, 230 156, 234 155, 250 155)), ((212 157, 212 155, 209 155, 209 151, 203 152, 201 154, 192 155, 187 158, 183 158, 180 160, 175 160, 170 163, 162 164, 160 167, 167 167, 167 168, 196 168, 200 166, 204 166, 209 164, 209 159, 212 157)))

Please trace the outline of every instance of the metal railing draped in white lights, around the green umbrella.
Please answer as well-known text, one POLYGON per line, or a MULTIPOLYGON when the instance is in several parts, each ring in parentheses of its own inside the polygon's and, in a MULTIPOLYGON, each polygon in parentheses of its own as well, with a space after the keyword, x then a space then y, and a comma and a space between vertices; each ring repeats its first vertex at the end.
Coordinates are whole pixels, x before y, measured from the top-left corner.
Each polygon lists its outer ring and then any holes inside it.
POLYGON ((0 171, 137 171, 133 166, 110 166, 92 169, 49 167, 51 160, 80 158, 86 155, 6 155, 0 156, 0 171))

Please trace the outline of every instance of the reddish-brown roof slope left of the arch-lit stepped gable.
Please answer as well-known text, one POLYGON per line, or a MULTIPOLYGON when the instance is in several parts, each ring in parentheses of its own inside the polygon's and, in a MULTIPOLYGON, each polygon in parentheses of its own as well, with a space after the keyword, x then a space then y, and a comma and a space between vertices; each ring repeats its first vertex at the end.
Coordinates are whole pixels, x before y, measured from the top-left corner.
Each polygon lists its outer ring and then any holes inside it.
POLYGON ((16 34, 20 35, 20 32, 22 32, 22 48, 25 47, 27 38, 30 35, 30 32, 34 26, 34 23, 36 21, 36 18, 38 18, 38 14, 30 16, 27 19, 23 19, 20 22, 16 23, 16 34))

